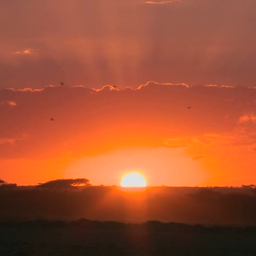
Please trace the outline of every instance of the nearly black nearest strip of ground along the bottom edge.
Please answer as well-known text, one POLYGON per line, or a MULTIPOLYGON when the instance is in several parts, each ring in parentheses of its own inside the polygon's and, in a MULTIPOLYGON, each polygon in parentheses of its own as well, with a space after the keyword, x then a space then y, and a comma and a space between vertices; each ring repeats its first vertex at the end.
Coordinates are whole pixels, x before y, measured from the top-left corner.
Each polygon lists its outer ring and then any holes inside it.
POLYGON ((256 255, 256 226, 88 219, 1 222, 0 255, 256 255))

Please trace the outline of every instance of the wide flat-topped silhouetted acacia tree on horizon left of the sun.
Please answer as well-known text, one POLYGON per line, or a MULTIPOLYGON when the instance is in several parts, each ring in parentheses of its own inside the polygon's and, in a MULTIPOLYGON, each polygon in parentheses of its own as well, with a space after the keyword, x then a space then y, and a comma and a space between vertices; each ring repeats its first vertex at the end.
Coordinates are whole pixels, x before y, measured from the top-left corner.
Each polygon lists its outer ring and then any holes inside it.
POLYGON ((42 189, 57 190, 57 191, 66 191, 69 189, 77 188, 79 186, 90 185, 89 179, 80 178, 80 179, 56 179, 54 181, 45 182, 39 184, 37 187, 42 189))

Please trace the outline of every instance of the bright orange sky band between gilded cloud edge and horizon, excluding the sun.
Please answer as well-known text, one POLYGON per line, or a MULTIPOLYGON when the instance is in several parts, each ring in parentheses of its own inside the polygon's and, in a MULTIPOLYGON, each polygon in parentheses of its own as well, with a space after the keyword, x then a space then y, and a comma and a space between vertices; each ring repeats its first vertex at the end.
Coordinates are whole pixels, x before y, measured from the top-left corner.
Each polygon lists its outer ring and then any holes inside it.
POLYGON ((112 185, 138 171, 148 185, 253 183, 255 98, 254 88, 154 82, 3 89, 1 177, 112 185))

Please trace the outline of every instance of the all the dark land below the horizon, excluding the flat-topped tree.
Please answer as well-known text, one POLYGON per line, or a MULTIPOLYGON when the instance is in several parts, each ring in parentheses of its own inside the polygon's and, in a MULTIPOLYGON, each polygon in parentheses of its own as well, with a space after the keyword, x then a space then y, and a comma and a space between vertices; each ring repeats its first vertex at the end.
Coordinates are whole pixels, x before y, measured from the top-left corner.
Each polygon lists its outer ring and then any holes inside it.
POLYGON ((0 187, 0 256, 256 255, 255 185, 0 187))

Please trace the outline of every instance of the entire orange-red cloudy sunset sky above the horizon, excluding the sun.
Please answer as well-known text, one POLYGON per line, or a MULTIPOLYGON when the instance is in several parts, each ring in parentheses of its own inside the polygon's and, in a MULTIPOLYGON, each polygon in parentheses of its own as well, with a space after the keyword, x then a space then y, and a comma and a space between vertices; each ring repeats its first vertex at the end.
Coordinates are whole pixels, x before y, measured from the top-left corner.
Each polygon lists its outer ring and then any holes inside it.
POLYGON ((0 0, 0 178, 255 183, 255 8, 0 0))

